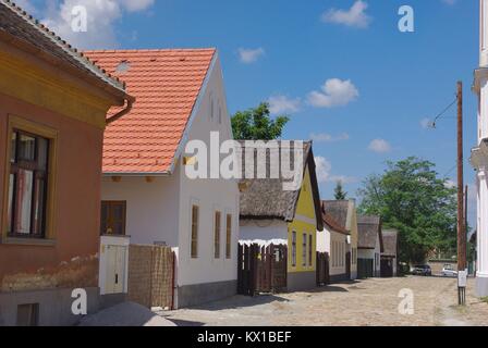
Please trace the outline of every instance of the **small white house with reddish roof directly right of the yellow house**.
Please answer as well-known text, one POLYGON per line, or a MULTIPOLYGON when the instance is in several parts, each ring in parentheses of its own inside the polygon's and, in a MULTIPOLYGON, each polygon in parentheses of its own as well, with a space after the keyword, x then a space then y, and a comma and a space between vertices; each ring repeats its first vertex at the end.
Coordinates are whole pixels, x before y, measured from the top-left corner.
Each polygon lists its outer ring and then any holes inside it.
POLYGON ((324 204, 322 220, 324 231, 317 231, 317 251, 329 256, 329 282, 347 281, 351 278, 346 265, 351 233, 325 210, 324 204))

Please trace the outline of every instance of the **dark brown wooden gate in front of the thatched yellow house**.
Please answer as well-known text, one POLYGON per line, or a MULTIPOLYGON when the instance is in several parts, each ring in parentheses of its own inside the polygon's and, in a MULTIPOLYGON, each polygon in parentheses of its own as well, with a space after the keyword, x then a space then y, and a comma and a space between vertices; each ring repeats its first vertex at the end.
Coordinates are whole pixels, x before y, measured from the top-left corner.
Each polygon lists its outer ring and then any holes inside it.
POLYGON ((237 293, 254 296, 286 290, 286 246, 239 245, 237 293))

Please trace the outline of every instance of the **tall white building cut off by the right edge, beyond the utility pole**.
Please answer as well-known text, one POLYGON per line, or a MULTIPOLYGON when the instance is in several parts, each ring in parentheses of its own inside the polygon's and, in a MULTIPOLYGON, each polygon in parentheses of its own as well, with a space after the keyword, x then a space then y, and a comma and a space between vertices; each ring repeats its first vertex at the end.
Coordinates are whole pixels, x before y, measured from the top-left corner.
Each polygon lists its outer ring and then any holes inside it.
POLYGON ((471 163, 477 171, 477 264, 476 294, 488 296, 488 0, 479 0, 479 67, 473 90, 478 96, 478 140, 471 163))

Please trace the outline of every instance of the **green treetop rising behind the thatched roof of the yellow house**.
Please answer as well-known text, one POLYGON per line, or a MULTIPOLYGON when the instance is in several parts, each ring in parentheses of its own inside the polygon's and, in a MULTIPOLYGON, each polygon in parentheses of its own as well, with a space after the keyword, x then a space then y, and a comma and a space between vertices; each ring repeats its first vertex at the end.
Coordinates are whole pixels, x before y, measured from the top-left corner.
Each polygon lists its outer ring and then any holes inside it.
POLYGON ((239 111, 232 116, 232 133, 236 140, 273 140, 281 137, 289 121, 286 115, 271 120, 269 104, 261 102, 255 109, 239 111))

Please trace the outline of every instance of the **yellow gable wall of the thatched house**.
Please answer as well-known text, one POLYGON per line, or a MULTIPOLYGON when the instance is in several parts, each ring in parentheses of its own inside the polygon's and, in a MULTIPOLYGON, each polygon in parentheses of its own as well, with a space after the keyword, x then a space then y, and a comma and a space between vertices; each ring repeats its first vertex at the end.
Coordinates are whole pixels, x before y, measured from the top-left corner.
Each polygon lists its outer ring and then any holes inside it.
POLYGON ((317 224, 315 217, 314 197, 312 192, 310 175, 308 166, 305 172, 304 181, 301 188, 298 203, 296 208, 295 220, 288 226, 288 272, 315 272, 316 250, 317 250, 317 224), (303 217, 302 217, 303 216, 303 217), (302 219, 301 219, 302 217, 302 219), (313 222, 313 223, 312 223, 313 222), (296 232, 296 265, 293 265, 293 232, 296 232), (306 265, 303 265, 303 234, 306 234, 307 249, 308 238, 312 236, 312 264, 308 263, 308 250, 306 265))

